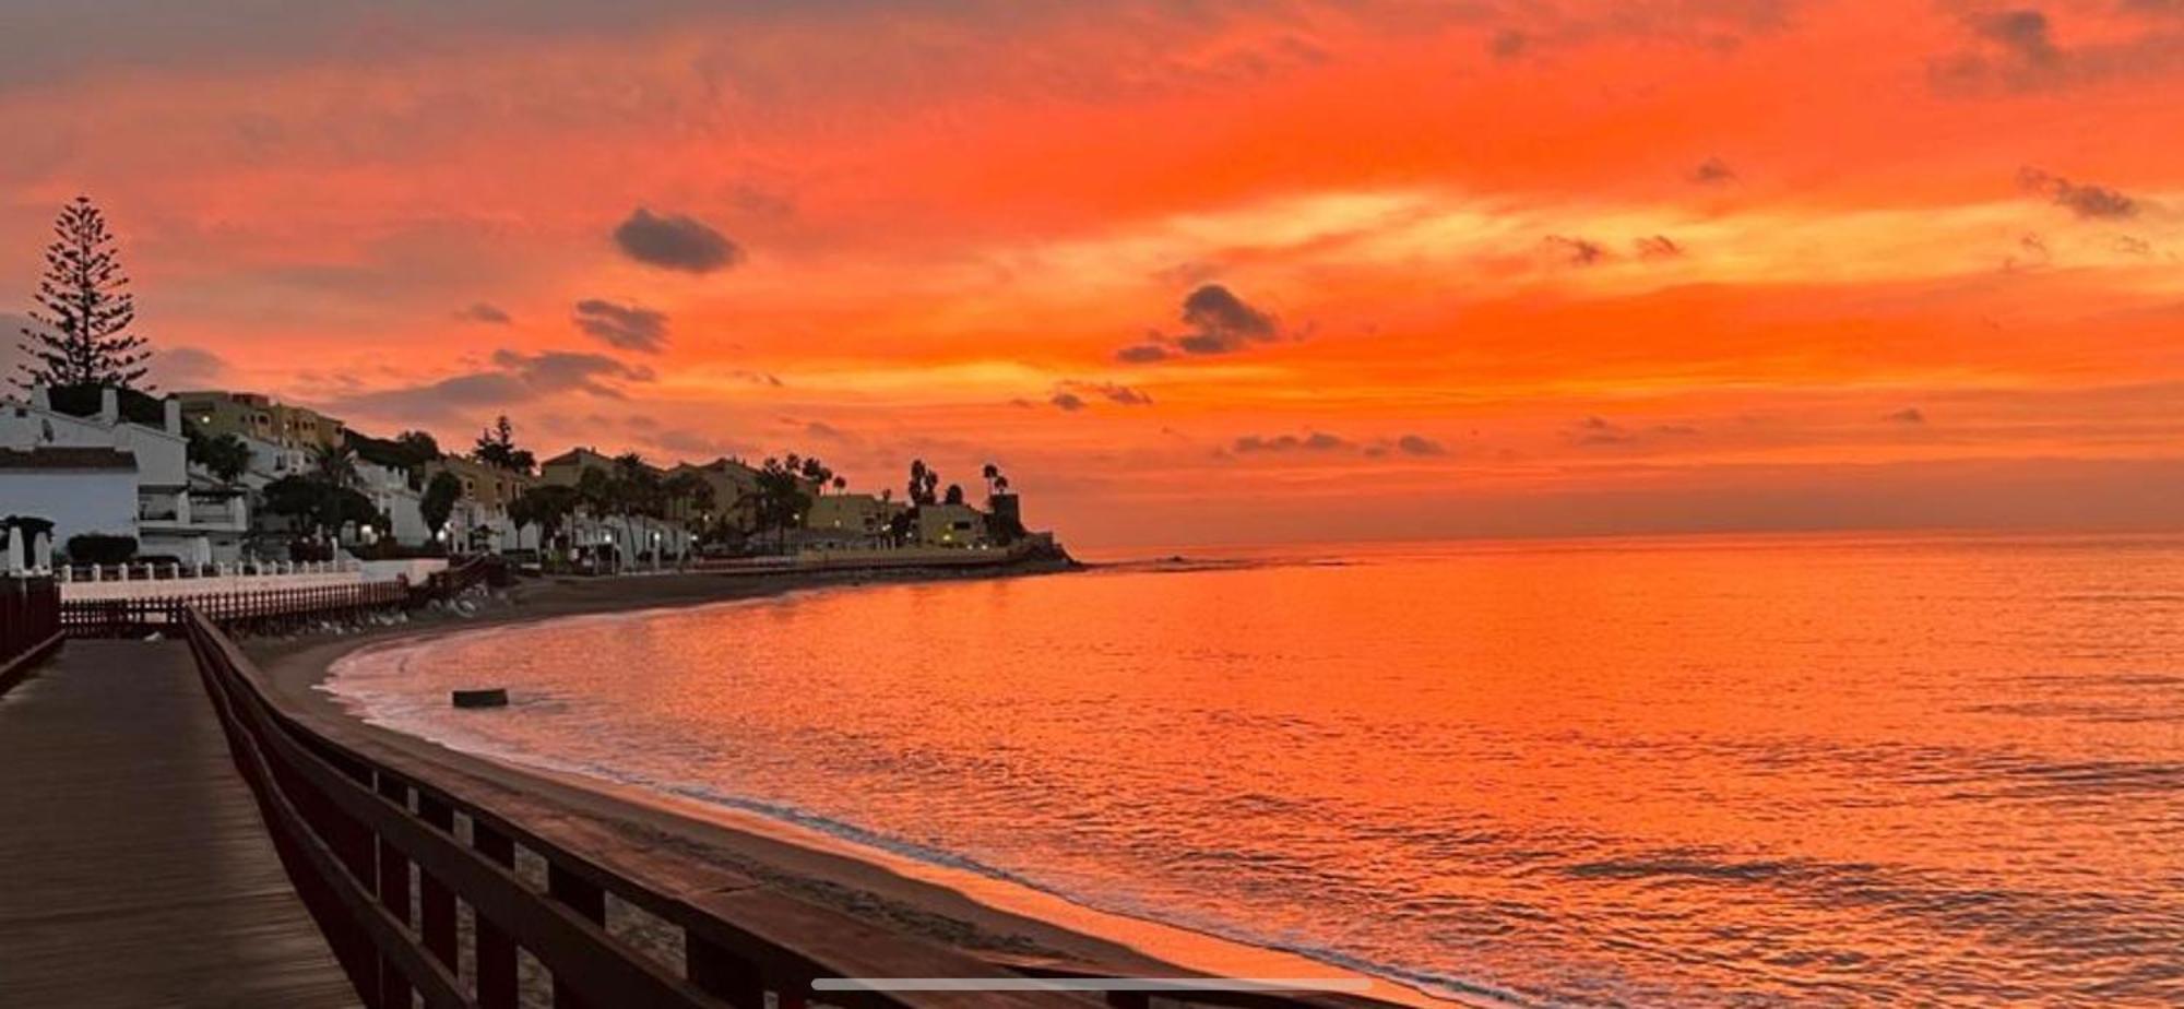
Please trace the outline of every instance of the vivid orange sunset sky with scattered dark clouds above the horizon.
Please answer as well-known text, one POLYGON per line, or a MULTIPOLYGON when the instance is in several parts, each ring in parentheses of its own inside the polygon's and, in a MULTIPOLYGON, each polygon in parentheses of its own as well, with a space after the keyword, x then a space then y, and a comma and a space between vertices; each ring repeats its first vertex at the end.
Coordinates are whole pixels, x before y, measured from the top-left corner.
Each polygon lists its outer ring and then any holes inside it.
POLYGON ((2184 524, 2177 0, 0 7, 0 323, 87 192, 164 389, 1092 546, 2184 524))

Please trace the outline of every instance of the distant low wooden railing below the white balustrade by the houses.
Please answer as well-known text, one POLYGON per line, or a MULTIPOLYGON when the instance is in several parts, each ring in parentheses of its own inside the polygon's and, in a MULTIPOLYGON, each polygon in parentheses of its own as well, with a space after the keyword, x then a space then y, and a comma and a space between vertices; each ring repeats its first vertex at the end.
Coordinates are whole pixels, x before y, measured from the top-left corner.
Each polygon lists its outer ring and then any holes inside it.
POLYGON ((179 633, 183 614, 192 609, 223 627, 271 631, 310 620, 360 618, 406 603, 408 587, 400 581, 365 581, 170 598, 72 598, 59 605, 59 614, 70 638, 138 638, 179 633))

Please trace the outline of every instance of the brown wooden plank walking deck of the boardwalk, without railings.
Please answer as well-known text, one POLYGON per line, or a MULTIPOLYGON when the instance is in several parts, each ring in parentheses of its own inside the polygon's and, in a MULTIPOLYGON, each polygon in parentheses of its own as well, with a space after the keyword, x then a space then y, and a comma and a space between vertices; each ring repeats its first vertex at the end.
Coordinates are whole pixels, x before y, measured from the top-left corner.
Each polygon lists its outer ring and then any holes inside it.
POLYGON ((183 642, 0 695, 0 1007, 352 1007, 183 642))

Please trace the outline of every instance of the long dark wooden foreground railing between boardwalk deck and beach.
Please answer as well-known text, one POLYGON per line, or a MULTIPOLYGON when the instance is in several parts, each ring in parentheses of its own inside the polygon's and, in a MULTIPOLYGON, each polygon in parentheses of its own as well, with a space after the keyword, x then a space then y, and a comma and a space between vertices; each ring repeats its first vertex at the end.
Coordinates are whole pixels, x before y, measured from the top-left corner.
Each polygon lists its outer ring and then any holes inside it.
MULTIPOLYGON (((306 727, 264 697, 251 662, 210 618, 190 612, 183 627, 275 850, 367 1007, 408 1007, 413 992, 426 1007, 515 1007, 518 950, 546 970, 539 987, 557 1007, 767 1009, 771 996, 778 1009, 799 1009, 819 976, 1009 976, 725 869, 622 852, 644 860, 649 878, 670 880, 644 882, 306 727), (520 871, 537 863, 544 885, 520 871), (609 904, 657 922, 666 941, 642 950, 612 935, 609 904), (467 935, 459 906, 470 909, 467 935)), ((830 992, 828 1000, 1092 1005, 1009 992, 830 992)))

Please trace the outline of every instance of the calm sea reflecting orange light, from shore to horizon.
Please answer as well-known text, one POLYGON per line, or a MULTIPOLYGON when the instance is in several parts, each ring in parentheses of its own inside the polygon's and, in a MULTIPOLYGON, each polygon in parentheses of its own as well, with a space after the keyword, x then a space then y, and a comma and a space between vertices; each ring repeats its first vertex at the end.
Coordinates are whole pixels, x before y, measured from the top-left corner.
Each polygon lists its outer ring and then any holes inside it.
POLYGON ((2184 1002, 2184 539, 1293 550, 485 631, 336 690, 1446 994, 2184 1002), (518 703, 446 708, 478 681, 518 703))

